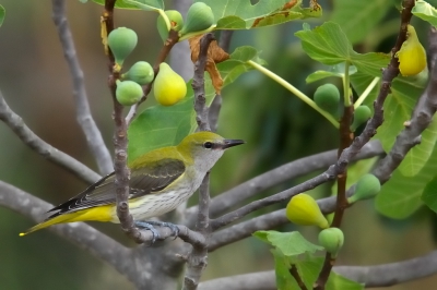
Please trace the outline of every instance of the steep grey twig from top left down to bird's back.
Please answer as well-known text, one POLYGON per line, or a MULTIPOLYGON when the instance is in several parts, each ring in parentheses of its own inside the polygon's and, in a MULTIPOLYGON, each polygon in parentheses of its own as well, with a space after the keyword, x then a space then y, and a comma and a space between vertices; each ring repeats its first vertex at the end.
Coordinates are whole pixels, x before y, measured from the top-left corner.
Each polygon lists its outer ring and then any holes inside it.
POLYGON ((79 125, 86 137, 86 142, 94 156, 102 174, 113 172, 113 158, 102 137, 102 133, 94 122, 87 101, 83 71, 78 60, 73 37, 66 17, 66 0, 52 0, 52 20, 58 29, 59 40, 62 45, 63 56, 70 68, 73 81, 73 97, 79 125))

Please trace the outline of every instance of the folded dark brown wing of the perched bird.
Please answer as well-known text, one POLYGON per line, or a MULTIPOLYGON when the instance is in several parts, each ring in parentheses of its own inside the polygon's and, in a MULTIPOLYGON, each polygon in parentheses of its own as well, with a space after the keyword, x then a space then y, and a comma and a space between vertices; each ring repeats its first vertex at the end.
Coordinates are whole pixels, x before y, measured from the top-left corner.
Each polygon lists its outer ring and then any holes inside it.
MULTIPOLYGON (((164 190, 185 172, 185 165, 178 159, 162 159, 153 166, 132 170, 129 182, 129 198, 143 196, 164 190)), ((57 212, 51 217, 90 207, 114 204, 116 202, 115 173, 110 173, 92 184, 79 195, 60 204, 49 212, 57 212)))

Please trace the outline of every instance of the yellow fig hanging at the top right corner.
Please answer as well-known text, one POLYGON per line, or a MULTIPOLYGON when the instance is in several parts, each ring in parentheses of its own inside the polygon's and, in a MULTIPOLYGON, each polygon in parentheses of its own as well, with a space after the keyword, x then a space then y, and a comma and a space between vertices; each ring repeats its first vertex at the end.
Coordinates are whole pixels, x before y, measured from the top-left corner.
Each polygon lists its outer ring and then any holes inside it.
POLYGON ((412 25, 406 26, 406 40, 398 51, 399 70, 403 76, 415 75, 426 67, 426 52, 418 41, 416 31, 412 25))

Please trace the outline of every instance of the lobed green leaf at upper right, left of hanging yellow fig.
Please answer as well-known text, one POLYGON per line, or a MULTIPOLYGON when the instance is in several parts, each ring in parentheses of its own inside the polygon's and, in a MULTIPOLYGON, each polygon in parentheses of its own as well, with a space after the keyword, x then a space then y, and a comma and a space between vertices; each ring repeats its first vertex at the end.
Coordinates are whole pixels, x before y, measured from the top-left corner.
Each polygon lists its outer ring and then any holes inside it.
POLYGON ((380 76, 381 69, 390 61, 390 56, 386 53, 355 52, 340 25, 333 22, 326 22, 312 31, 299 31, 295 35, 300 38, 302 47, 310 58, 328 65, 347 61, 358 72, 380 76))

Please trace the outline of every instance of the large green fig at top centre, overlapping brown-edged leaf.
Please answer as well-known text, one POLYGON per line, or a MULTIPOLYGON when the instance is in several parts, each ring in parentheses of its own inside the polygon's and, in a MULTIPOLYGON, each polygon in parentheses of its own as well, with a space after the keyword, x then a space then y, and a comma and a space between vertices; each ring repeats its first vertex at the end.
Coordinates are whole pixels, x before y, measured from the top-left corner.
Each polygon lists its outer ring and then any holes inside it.
POLYGON ((193 3, 187 11, 187 17, 179 35, 201 32, 214 24, 212 9, 203 2, 193 3))

